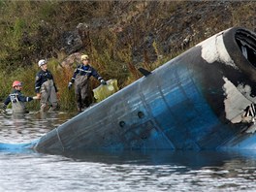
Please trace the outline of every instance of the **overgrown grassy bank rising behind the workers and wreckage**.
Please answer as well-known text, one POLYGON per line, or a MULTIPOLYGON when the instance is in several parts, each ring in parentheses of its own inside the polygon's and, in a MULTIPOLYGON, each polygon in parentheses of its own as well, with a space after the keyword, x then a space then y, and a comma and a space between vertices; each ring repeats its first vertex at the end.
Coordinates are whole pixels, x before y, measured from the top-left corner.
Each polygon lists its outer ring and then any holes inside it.
MULTIPOLYGON (((86 27, 76 51, 89 54, 101 76, 118 80, 121 89, 142 77, 137 68, 153 70, 222 30, 256 29, 255 8, 253 1, 0 1, 0 101, 14 80, 24 82, 25 95, 35 95, 37 61, 46 58, 61 110, 76 110, 74 90, 67 88, 76 63, 70 69, 59 63, 70 54, 63 54, 64 34, 80 23, 86 27)), ((28 108, 39 109, 39 102, 28 108)))

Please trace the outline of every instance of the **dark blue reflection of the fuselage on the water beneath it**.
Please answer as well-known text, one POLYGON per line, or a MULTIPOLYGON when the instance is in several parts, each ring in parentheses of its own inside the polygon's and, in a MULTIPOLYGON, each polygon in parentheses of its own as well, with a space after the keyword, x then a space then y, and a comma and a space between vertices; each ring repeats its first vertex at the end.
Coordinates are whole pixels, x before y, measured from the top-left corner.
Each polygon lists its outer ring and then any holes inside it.
POLYGON ((226 162, 238 160, 255 162, 255 151, 52 151, 74 161, 104 164, 177 165, 190 169, 222 167, 226 162))

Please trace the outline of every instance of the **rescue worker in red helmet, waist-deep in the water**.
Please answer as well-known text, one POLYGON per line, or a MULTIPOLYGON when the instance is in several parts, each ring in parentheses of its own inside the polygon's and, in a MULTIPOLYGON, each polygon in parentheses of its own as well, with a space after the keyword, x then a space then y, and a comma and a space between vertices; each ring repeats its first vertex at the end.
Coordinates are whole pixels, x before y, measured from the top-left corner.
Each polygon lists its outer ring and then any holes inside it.
POLYGON ((28 113, 25 102, 30 102, 35 99, 39 99, 37 96, 34 97, 26 97, 21 93, 22 82, 15 80, 13 82, 13 91, 6 98, 2 110, 6 110, 7 106, 12 103, 13 113, 28 113))

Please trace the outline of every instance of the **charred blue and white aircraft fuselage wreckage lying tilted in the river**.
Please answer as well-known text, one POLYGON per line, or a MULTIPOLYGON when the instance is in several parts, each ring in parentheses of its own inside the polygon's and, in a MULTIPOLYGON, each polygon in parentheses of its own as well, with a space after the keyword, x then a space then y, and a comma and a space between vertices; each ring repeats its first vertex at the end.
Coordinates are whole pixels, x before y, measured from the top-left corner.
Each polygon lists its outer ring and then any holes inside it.
POLYGON ((254 32, 227 29, 141 72, 143 78, 42 138, 0 148, 256 149, 254 32))

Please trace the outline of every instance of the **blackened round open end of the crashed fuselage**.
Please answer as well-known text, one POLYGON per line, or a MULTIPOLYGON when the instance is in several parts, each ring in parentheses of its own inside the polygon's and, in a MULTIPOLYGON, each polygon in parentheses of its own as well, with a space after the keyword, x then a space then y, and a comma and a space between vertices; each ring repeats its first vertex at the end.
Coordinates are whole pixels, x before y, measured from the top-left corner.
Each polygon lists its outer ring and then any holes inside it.
POLYGON ((234 28, 224 34, 223 41, 240 72, 237 77, 234 73, 234 83, 244 97, 256 103, 256 34, 234 28))

